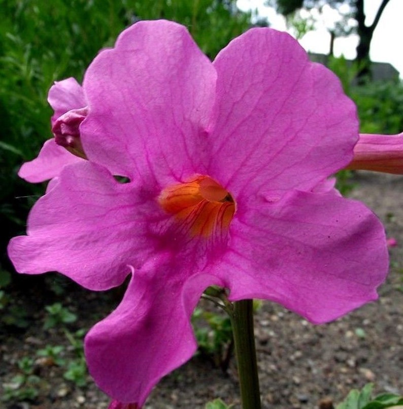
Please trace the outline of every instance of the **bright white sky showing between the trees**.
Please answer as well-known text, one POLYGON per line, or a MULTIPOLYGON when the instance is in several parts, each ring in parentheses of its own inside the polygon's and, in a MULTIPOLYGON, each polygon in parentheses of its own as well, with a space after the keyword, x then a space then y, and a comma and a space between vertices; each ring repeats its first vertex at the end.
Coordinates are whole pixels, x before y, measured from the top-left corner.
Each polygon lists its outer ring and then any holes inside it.
MULTIPOLYGON (((382 0, 365 0, 364 11, 367 25, 372 24, 375 14, 382 0)), ((264 6, 264 0, 238 0, 241 10, 255 10, 259 16, 267 17, 271 27, 287 31, 285 19, 276 15, 274 9, 264 6)), ((337 14, 337 13, 336 13, 337 14)), ((306 34, 301 40, 301 45, 312 52, 327 54, 329 52, 330 35, 326 25, 332 24, 334 14, 331 10, 324 11, 323 18, 318 22, 317 30, 306 34)), ((370 56, 372 61, 390 63, 399 71, 403 78, 403 0, 390 0, 382 13, 381 19, 375 29, 371 42, 370 56)), ((354 59, 358 37, 351 35, 348 38, 339 38, 334 42, 334 54, 343 54, 347 59, 354 59)))

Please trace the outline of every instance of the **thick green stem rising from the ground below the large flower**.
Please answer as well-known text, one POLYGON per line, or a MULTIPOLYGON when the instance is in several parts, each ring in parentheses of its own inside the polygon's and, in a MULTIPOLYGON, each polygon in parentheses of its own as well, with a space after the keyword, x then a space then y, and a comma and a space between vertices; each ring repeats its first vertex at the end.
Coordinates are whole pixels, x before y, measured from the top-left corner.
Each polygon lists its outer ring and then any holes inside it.
POLYGON ((253 333, 253 300, 233 303, 231 324, 238 364, 242 409, 260 409, 259 378, 253 333))

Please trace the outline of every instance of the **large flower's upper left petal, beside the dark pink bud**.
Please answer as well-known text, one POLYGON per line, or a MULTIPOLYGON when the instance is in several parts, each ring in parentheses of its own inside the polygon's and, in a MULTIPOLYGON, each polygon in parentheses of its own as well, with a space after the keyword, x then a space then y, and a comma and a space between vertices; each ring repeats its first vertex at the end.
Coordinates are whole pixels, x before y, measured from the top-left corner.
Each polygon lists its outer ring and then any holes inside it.
POLYGON ((81 132, 87 157, 145 183, 195 173, 215 81, 211 62, 184 26, 132 25, 86 72, 90 114, 81 132))

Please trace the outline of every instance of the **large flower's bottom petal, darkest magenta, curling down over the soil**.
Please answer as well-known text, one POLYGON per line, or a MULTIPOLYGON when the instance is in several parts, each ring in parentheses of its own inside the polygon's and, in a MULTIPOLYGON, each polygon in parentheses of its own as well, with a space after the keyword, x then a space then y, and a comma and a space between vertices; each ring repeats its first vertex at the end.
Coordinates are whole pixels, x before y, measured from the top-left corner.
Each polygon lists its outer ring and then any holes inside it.
POLYGON ((183 365, 196 350, 190 315, 209 275, 190 279, 181 263, 160 257, 157 271, 135 271, 115 311, 85 338, 91 375, 107 394, 143 405, 165 374, 183 365))

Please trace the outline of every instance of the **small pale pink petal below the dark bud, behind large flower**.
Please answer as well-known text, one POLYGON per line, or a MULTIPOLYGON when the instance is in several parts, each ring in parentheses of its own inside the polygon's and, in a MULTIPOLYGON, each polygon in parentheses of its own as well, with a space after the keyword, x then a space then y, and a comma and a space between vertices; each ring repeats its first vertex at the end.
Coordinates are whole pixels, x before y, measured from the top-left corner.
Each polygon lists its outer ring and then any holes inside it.
POLYGON ((37 158, 21 166, 18 176, 30 183, 44 182, 56 177, 63 166, 83 160, 57 145, 54 139, 49 139, 37 158))

